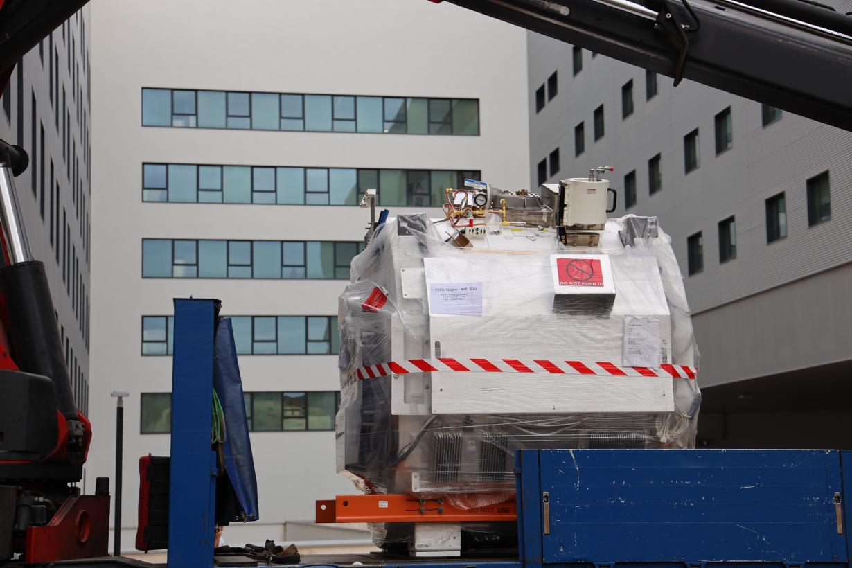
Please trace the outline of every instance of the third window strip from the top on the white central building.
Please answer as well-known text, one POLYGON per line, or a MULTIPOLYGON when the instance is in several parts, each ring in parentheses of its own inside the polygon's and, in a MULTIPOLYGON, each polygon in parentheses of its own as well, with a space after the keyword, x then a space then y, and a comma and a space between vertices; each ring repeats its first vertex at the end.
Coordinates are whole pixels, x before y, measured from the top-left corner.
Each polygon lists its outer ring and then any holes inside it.
POLYGON ((360 242, 142 239, 143 278, 349 278, 360 242))

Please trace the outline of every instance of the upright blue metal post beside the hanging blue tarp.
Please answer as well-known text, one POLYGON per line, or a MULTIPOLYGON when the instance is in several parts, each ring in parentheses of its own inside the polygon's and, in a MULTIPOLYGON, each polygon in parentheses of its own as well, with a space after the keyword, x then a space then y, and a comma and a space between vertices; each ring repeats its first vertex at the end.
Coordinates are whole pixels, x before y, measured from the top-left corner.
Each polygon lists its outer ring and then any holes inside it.
POLYGON ((169 568, 213 565, 216 454, 210 450, 216 300, 175 300, 169 568))

